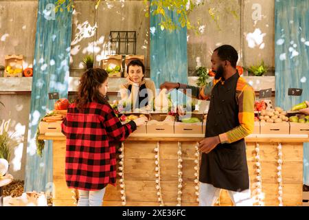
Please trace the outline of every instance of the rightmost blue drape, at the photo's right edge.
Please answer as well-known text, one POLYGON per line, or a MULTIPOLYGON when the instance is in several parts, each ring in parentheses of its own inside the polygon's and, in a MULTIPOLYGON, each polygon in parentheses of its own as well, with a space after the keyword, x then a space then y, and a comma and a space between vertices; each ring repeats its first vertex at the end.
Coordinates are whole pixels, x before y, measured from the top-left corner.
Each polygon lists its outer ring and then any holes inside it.
MULTIPOLYGON (((290 109, 309 100, 309 1, 275 1, 276 105, 290 109), (301 96, 288 96, 301 88, 301 96)), ((309 185, 309 144, 304 144, 304 184, 309 185)))

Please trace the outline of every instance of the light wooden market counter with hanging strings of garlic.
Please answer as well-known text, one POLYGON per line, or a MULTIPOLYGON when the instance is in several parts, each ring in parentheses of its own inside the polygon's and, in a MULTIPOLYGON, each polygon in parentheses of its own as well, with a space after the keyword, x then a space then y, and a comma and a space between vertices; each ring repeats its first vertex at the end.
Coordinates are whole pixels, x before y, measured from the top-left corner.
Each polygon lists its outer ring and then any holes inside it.
MULTIPOLYGON (((107 186, 103 205, 159 206, 159 197, 165 206, 198 206, 195 173, 198 172, 196 159, 200 155, 196 151, 196 145, 203 137, 204 135, 131 134, 123 143, 121 178, 117 175, 116 187, 107 186), (159 148, 159 152, 154 151, 155 148, 159 148), (159 158, 156 158, 156 153, 159 158), (156 162, 158 159, 159 163, 156 162), (156 188, 158 170, 160 190, 156 188), (179 170, 182 172, 181 179, 179 170), (182 187, 179 189, 181 180, 182 187), (179 191, 181 200, 177 200, 179 191)), ((52 140, 54 143, 54 206, 74 206, 76 191, 67 188, 65 183, 65 136, 46 133, 39 135, 38 139, 52 140)), ((254 204, 278 206, 279 193, 282 193, 284 206, 301 206, 303 143, 309 142, 308 135, 249 135, 245 140, 254 204), (261 186, 257 185, 257 178, 260 178, 261 186), (279 186, 282 187, 282 192, 279 186)), ((118 174, 119 161, 117 159, 118 174)), ((232 205, 226 190, 221 191, 217 205, 232 205)))

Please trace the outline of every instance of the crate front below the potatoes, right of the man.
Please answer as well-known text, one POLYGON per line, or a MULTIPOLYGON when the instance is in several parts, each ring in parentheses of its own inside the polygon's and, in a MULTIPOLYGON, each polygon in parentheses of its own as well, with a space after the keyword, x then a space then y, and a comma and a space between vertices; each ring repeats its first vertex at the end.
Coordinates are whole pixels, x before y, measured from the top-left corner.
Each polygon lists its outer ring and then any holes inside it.
POLYGON ((290 124, 288 122, 281 122, 281 123, 267 123, 261 122, 260 123, 260 134, 265 135, 288 135, 290 133, 290 124))

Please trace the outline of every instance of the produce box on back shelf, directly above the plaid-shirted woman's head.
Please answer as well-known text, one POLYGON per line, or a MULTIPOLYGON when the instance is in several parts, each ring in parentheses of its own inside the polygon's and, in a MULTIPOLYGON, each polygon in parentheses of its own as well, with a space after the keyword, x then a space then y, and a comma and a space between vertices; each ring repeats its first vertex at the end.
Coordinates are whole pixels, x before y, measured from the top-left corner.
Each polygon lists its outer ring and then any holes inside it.
POLYGON ((122 55, 108 55, 101 61, 101 67, 109 77, 122 77, 122 55))

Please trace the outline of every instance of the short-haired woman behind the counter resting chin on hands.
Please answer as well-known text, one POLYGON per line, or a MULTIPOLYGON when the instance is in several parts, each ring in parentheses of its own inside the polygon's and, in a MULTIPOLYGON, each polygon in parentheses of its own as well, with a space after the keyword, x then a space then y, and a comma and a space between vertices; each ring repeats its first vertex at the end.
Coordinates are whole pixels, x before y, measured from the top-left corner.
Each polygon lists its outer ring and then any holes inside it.
POLYGON ((152 111, 152 100, 156 95, 155 83, 144 78, 144 64, 139 60, 130 61, 126 72, 128 73, 126 78, 128 82, 120 86, 122 102, 131 103, 132 110, 144 109, 152 111))

